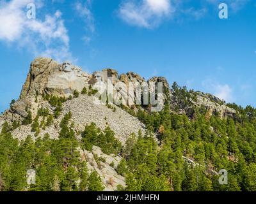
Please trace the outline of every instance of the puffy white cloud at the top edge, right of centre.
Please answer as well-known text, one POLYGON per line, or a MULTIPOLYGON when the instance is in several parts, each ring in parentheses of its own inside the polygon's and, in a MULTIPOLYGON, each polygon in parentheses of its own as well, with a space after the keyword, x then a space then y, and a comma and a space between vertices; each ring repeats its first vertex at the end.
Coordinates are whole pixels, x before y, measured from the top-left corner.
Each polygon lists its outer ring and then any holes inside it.
POLYGON ((118 10, 120 18, 131 25, 152 28, 164 17, 170 17, 174 6, 170 0, 123 1, 118 10))

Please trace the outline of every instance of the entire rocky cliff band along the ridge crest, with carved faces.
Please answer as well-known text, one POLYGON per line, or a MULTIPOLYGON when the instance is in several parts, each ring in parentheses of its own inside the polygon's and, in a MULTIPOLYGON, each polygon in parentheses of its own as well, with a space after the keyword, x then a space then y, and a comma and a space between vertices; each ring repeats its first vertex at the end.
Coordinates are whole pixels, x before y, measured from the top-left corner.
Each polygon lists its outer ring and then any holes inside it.
MULTIPOLYGON (((111 83, 114 85, 114 91, 119 92, 120 94, 122 94, 120 86, 115 87, 119 82, 122 82, 125 85, 128 85, 129 83, 132 84, 134 90, 138 84, 162 82, 164 87, 163 103, 167 98, 171 98, 170 106, 177 105, 176 96, 173 95, 170 85, 164 77, 152 77, 146 81, 145 78, 140 77, 140 75, 136 73, 128 72, 127 74, 118 75, 118 72, 115 69, 110 68, 103 69, 102 71, 95 71, 91 75, 68 62, 58 64, 49 58, 37 58, 35 61, 31 62, 28 77, 22 87, 20 98, 10 107, 10 110, 6 110, 6 112, 1 115, 0 125, 3 124, 4 120, 10 122, 15 120, 22 121, 24 117, 28 115, 28 110, 32 112, 33 117, 35 117, 36 112, 40 107, 47 107, 52 110, 52 107, 42 99, 43 94, 68 98, 69 96, 72 96, 75 90, 81 92, 84 87, 88 89, 90 85, 97 89, 97 82, 106 83, 108 79, 110 79, 111 83)), ((122 89, 124 90, 127 88, 122 87, 122 89)), ((191 100, 193 106, 204 106, 209 110, 210 114, 218 112, 221 117, 232 116, 236 113, 234 109, 228 108, 220 99, 210 94, 198 93, 196 100, 191 100)), ((135 101, 134 94, 128 94, 127 100, 124 101, 123 99, 122 103, 125 102, 124 105, 129 108, 132 106, 133 110, 136 112, 136 106, 127 103, 129 99, 135 101)), ((184 105, 178 106, 180 108, 180 113, 188 112, 188 110, 186 110, 188 107, 184 105)))

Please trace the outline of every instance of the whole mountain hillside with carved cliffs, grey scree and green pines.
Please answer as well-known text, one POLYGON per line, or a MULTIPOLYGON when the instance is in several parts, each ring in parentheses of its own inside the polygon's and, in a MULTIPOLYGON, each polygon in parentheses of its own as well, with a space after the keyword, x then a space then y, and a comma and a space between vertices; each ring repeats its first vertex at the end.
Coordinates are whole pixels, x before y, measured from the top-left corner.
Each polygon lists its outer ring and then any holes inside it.
POLYGON ((146 81, 110 68, 90 74, 38 58, 0 117, 0 191, 253 191, 255 116, 251 106, 163 77, 146 81), (122 104, 104 104, 97 94, 109 80, 122 104), (163 84, 158 112, 143 94, 141 104, 127 103, 136 101, 136 89, 122 98, 122 85, 150 83, 157 90, 163 84), (227 184, 219 183, 220 170, 227 184))

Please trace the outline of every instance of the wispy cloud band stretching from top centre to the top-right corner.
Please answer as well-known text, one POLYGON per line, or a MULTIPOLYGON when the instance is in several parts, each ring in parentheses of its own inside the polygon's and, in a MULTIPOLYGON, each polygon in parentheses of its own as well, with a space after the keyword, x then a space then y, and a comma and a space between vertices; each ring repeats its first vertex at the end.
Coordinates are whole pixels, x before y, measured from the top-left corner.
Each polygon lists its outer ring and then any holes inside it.
MULTIPOLYGON (((218 10, 218 5, 223 0, 200 0, 197 6, 191 6, 194 0, 122 0, 118 9, 118 15, 124 22, 137 27, 155 28, 164 19, 172 18, 180 22, 184 18, 199 20, 212 6, 218 10)), ((250 0, 226 0, 231 11, 241 10, 250 0)))

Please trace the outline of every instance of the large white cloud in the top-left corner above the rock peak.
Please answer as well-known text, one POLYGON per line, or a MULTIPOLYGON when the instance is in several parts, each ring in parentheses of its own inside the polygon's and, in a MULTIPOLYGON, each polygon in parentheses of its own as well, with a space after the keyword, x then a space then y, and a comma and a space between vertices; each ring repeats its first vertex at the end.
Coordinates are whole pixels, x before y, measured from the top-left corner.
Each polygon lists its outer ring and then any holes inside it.
POLYGON ((29 3, 35 3, 36 8, 42 6, 40 0, 12 0, 0 3, 0 40, 16 47, 26 47, 35 56, 72 61, 68 31, 61 18, 61 12, 45 15, 44 20, 28 19, 26 6, 29 3))

